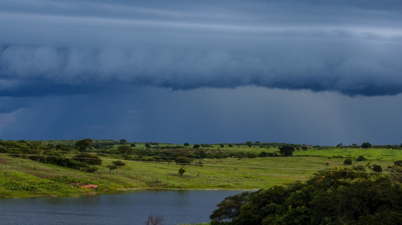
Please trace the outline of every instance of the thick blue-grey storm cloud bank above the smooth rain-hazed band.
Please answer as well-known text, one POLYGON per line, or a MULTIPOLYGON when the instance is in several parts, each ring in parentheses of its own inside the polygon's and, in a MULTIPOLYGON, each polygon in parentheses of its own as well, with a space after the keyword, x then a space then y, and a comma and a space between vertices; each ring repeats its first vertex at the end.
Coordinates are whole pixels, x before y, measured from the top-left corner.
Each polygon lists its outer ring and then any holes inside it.
POLYGON ((402 93, 400 1, 18 2, 0 3, 0 96, 127 85, 402 93))

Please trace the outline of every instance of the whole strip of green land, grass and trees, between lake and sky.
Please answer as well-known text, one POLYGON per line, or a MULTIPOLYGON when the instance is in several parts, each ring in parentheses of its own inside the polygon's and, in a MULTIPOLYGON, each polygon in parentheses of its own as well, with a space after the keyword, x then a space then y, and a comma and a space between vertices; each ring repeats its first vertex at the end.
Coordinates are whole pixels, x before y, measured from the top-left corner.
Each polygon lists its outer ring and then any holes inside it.
POLYGON ((132 188, 258 190, 304 182, 334 167, 395 173, 401 165, 394 162, 401 159, 398 145, 0 141, 0 198, 83 196, 132 188), (292 147, 289 155, 287 146, 292 147), (352 164, 346 165, 346 159, 352 164))

